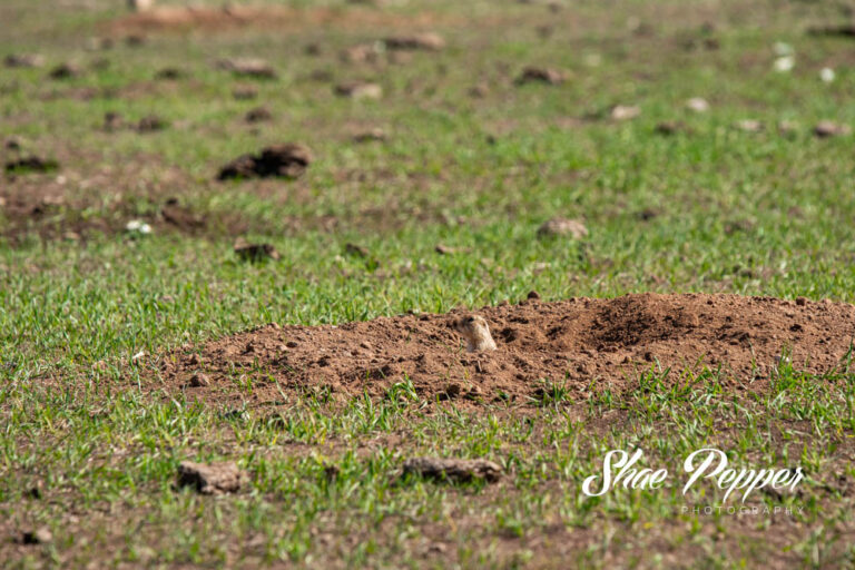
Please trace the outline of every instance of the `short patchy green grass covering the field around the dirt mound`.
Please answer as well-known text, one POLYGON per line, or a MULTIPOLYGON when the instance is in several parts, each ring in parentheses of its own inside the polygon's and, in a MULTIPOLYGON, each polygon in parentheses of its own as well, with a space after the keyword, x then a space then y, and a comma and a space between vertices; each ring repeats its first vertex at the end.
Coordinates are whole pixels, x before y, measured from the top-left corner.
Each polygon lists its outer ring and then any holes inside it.
MULTIPOLYGON (((0 7, 0 21, 17 22, 0 30, 0 56, 40 51, 49 60, 45 69, 0 69, 0 140, 19 137, 28 153, 60 163, 53 173, 2 178, 0 197, 12 204, 45 188, 66 197, 38 219, 0 208, 7 566, 855 563, 848 370, 818 379, 784 365, 769 393, 741 396, 711 371, 676 387, 651 371, 630 379, 635 392, 593 386, 588 401, 544 382, 530 405, 480 413, 420 400, 402 382, 382 401, 307 396, 271 419, 273 410, 229 415, 153 393, 148 368, 129 364, 139 351, 156 362, 184 343, 268 322, 439 313, 531 289, 544 299, 658 291, 853 302, 853 138, 810 135, 822 119, 855 124, 852 43, 803 33, 805 22, 837 21, 834 7, 728 0, 709 12, 665 0, 586 1, 551 13, 537 3, 417 1, 384 10, 403 22, 431 12, 446 50, 402 65, 346 66, 341 49, 395 30, 165 33, 90 52, 87 38, 121 13, 106 1, 91 4, 0 7), (652 33, 633 33, 632 17, 652 33), (710 20, 720 49, 684 50, 710 20), (544 24, 554 27, 546 39, 537 32, 544 24), (776 41, 794 46, 793 73, 772 70, 776 41), (313 42, 321 56, 305 53, 313 42), (267 58, 279 78, 236 81, 213 65, 235 55, 267 58), (586 63, 590 55, 599 66, 586 63), (88 67, 101 57, 108 68, 88 67), (67 59, 86 73, 46 79, 67 59), (569 70, 571 79, 515 87, 531 63, 569 70), (835 82, 819 80, 825 66, 835 67, 835 82), (164 67, 189 78, 155 81, 164 67), (316 70, 334 81, 311 79, 316 70), (384 99, 334 96, 335 82, 353 78, 380 82, 384 99), (237 82, 256 86, 257 100, 235 100, 237 82), (481 82, 488 95, 470 97, 481 82), (685 109, 696 96, 710 101, 709 112, 685 109), (616 104, 639 105, 642 115, 579 120, 616 104), (245 125, 258 105, 274 121, 245 125), (129 121, 155 114, 170 126, 106 132, 107 111, 129 121), (734 129, 744 118, 767 128, 734 129), (657 135, 664 120, 682 120, 692 132, 657 135), (782 120, 799 129, 782 136, 782 120), (352 142, 374 126, 389 140, 352 142), (316 156, 304 178, 214 180, 235 156, 292 140, 316 156), (205 216, 203 232, 183 234, 159 219, 174 196, 205 216), (554 215, 583 219, 590 236, 538 239, 538 226, 554 215), (136 218, 153 222, 154 235, 121 230, 136 218), (61 239, 68 230, 82 239, 61 239), (274 244, 282 259, 239 263, 237 236, 274 244), (348 256, 347 243, 366 247, 368 259, 348 256), (438 244, 461 253, 439 255, 438 244), (601 499, 579 490, 608 450, 641 446, 647 464, 678 472, 707 445, 736 464, 802 465, 808 480, 799 495, 756 493, 751 504, 804 510, 682 513, 720 501, 708 485, 689 497, 679 485, 601 499), (403 461, 419 454, 485 456, 507 475, 497 485, 401 480, 403 461), (175 491, 184 459, 234 459, 252 483, 217 499, 175 491), (328 465, 337 468, 333 479, 328 465), (29 493, 35 485, 40 499, 29 493), (39 525, 52 530, 51 543, 12 543, 39 525)), ((3 161, 12 156, 1 153, 3 161)))

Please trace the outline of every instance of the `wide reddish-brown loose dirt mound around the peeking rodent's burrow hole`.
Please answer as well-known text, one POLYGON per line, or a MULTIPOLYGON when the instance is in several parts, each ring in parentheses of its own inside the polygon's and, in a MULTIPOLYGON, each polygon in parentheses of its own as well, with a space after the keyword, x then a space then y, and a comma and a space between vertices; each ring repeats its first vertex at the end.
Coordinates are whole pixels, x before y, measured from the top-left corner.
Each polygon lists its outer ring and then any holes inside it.
MULTIPOLYGON (((535 295, 532 295, 534 297, 535 295)), ((468 354, 448 315, 381 317, 341 326, 275 324, 215 341, 200 352, 165 358, 167 385, 190 397, 247 404, 282 402, 287 393, 333 397, 383 395, 412 381, 422 397, 529 402, 546 382, 571 397, 637 386, 640 372, 671 366, 670 381, 701 366, 727 372, 737 387, 764 390, 776 358, 824 373, 839 366, 855 336, 855 306, 735 295, 637 294, 573 298, 478 312, 498 350, 468 354), (209 385, 190 387, 205 373, 209 385), (252 380, 252 392, 240 392, 252 380)))

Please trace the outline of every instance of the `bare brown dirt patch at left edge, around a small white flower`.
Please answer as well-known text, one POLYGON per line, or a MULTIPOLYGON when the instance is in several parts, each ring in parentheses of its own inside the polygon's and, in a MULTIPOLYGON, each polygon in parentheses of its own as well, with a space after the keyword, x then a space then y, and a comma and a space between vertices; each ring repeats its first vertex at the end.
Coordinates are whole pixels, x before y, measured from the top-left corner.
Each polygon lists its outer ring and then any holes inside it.
MULTIPOLYGON (((164 122, 149 117, 130 126, 145 130, 158 125, 164 122)), ((105 118, 107 130, 124 127, 118 115, 105 118)), ((30 236, 87 240, 124 234, 132 219, 150 224, 156 233, 216 237, 240 235, 250 226, 237 212, 195 210, 184 199, 193 180, 180 168, 160 165, 157 157, 109 164, 99 155, 67 149, 60 149, 57 159, 46 156, 10 153, 0 173, 0 238, 13 245, 30 236), (148 212, 140 212, 140 205, 148 212)))

